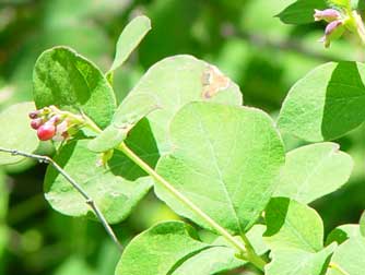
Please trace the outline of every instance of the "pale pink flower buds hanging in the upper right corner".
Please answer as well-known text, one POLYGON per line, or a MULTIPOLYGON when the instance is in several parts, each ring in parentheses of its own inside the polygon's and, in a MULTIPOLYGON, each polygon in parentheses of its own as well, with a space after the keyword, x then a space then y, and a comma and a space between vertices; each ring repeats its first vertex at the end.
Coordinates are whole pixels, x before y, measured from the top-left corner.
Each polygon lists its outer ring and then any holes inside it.
POLYGON ((326 9, 323 11, 315 10, 315 21, 326 21, 328 25, 325 29, 325 36, 319 41, 325 44, 328 48, 331 45, 331 40, 342 36, 345 31, 345 16, 343 16, 338 10, 326 9))

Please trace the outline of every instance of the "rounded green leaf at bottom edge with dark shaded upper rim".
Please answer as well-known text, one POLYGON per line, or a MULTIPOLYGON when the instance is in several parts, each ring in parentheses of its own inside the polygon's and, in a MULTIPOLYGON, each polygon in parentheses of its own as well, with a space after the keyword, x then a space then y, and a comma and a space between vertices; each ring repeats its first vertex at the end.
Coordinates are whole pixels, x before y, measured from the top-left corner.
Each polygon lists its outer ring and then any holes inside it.
POLYGON ((126 248, 116 275, 166 275, 193 254, 211 247, 181 222, 158 224, 137 236, 126 248))

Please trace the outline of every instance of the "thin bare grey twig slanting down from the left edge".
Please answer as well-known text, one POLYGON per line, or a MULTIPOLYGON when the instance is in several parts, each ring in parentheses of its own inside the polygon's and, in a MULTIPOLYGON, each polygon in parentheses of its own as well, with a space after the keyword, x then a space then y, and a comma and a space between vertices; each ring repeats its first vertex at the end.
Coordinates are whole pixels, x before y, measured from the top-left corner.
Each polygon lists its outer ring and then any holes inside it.
POLYGON ((122 246, 121 243, 118 241, 115 232, 113 231, 111 227, 109 226, 109 224, 106 222, 106 218, 104 217, 103 213, 101 212, 101 210, 97 207, 97 205, 95 204, 94 200, 86 193, 86 191, 74 180, 72 179, 54 159, 51 159, 48 156, 40 156, 40 155, 35 155, 35 154, 30 154, 30 153, 25 153, 25 152, 21 152, 17 150, 9 150, 9 148, 2 148, 0 147, 0 152, 4 152, 4 153, 9 153, 12 154, 14 156, 24 156, 24 157, 30 157, 30 158, 34 158, 37 159, 39 163, 44 163, 44 164, 50 164, 51 166, 54 166, 54 168, 60 174, 62 175, 62 177, 69 181, 72 187, 78 190, 78 192, 85 199, 86 204, 94 211, 95 215, 97 216, 97 218, 99 219, 99 222, 103 224, 105 230, 107 231, 107 234, 110 236, 110 238, 113 239, 113 241, 118 246, 118 248, 120 249, 120 251, 122 251, 122 246))

